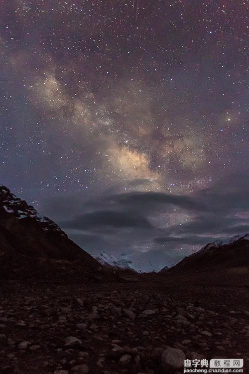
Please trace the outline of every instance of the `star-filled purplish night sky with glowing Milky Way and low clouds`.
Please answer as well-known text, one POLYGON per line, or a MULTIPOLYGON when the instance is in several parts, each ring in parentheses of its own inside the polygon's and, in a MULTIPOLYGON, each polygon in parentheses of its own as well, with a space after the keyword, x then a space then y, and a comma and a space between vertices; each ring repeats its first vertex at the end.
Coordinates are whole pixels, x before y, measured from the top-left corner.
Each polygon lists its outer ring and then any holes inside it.
POLYGON ((1 184, 144 269, 249 231, 247 0, 0 8, 1 184))

